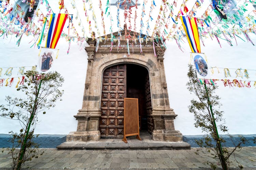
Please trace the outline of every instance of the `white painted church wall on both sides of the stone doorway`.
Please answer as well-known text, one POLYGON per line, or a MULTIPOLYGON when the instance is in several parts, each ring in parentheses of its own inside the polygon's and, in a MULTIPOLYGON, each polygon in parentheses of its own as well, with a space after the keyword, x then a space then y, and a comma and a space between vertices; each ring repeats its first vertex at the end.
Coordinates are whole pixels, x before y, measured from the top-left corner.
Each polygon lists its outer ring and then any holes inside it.
MULTIPOLYGON (((251 39, 256 43, 256 36, 250 34, 251 39)), ((17 38, 9 36, 0 40, 0 67, 32 66, 38 65, 37 48, 30 48, 29 41, 33 37, 24 36, 20 46, 17 47, 17 38)), ((244 37, 243 37, 244 38, 244 37)), ((245 39, 245 38, 244 38, 245 39)), ((185 40, 185 39, 184 39, 185 40)), ((233 41, 233 47, 230 47, 224 40, 221 41, 222 48, 217 41, 208 38, 205 40, 205 46, 201 51, 208 57, 209 66, 224 68, 243 68, 256 69, 255 67, 255 49, 251 43, 243 42, 237 38, 238 46, 233 41)), ((183 135, 200 135, 201 130, 193 125, 193 114, 188 112, 193 95, 190 95, 186 82, 188 63, 190 59, 190 49, 188 44, 183 44, 185 51, 178 49, 175 41, 167 42, 165 52, 165 71, 168 85, 170 105, 178 116, 174 120, 175 129, 182 132, 183 135)), ((77 121, 73 115, 77 114, 78 109, 82 108, 85 75, 87 68, 87 55, 75 42, 71 42, 70 53, 67 54, 68 43, 60 38, 56 47, 60 49, 58 59, 54 60, 53 69, 60 72, 65 78, 65 83, 61 89, 64 89, 63 101, 58 101, 56 107, 46 111, 46 114, 40 114, 35 133, 37 134, 68 134, 70 131, 76 131, 77 121)), ((224 79, 223 69, 219 69, 221 74, 215 73, 211 76, 213 79, 224 79)), ((3 70, 4 72, 5 70, 3 70)), ((256 71, 248 71, 250 79, 256 81, 256 71)), ((234 70, 230 70, 234 76, 234 70)), ((2 73, 1 78, 6 78, 2 73)), ((17 69, 13 70, 11 77, 17 76, 17 69)), ((234 79, 232 77, 230 79, 234 79)), ((11 87, 0 87, 0 104, 4 104, 5 96, 18 97, 15 85, 17 79, 11 87)), ((218 81, 219 89, 216 94, 222 99, 222 110, 226 125, 230 134, 256 134, 255 112, 256 112, 256 89, 251 83, 251 88, 224 87, 223 83, 218 81)), ((18 131, 19 124, 13 120, 0 117, 0 133, 7 134, 9 131, 18 131)))

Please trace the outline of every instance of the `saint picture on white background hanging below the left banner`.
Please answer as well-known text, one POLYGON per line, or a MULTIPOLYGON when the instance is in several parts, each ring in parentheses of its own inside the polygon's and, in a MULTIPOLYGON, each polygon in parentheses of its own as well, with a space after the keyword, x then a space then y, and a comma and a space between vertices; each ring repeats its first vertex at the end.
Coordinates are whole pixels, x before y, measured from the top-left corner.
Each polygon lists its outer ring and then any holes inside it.
POLYGON ((39 64, 41 71, 48 71, 53 64, 54 52, 52 50, 44 50, 40 54, 39 64))

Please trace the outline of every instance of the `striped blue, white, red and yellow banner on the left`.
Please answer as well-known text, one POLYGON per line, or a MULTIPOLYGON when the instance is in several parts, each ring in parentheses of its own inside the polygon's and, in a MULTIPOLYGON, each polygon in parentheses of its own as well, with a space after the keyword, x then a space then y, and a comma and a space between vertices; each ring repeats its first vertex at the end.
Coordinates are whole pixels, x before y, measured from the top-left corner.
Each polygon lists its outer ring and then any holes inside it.
POLYGON ((49 21, 49 31, 46 38, 45 47, 55 48, 60 34, 63 30, 68 14, 52 14, 49 21))

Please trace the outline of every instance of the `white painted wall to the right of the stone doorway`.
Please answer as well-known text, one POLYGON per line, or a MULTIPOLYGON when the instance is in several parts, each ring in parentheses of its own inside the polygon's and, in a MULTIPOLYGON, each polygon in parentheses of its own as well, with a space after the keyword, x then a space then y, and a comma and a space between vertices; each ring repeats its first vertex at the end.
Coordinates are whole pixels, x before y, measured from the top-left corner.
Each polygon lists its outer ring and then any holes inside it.
MULTIPOLYGON (((244 36, 241 36, 245 39, 244 36)), ((256 43, 256 36, 250 34, 254 43, 256 43)), ((242 68, 242 69, 256 69, 255 67, 255 52, 256 47, 251 43, 247 43, 236 37, 238 46, 234 39, 233 46, 229 46, 225 40, 220 40, 222 48, 220 48, 216 39, 205 40, 205 47, 201 44, 201 52, 205 53, 208 58, 208 67, 223 67, 223 68, 242 68)), ((185 40, 185 39, 184 39, 185 40)), ((193 126, 194 115, 188 112, 188 105, 194 95, 189 94, 186 89, 186 82, 188 78, 188 63, 190 59, 190 48, 188 44, 183 44, 185 51, 182 52, 177 48, 174 41, 168 43, 165 52, 165 71, 168 85, 168 93, 170 106, 174 109, 178 116, 174 120, 176 130, 180 130, 183 135, 201 134, 200 129, 193 126)), ((219 69, 220 74, 217 74, 215 69, 212 79, 224 79, 223 69, 219 69)), ((232 78, 236 79, 235 70, 230 70, 232 78)), ((256 71, 248 71, 249 79, 256 80, 256 71)), ((239 78, 237 78, 240 80, 239 78)), ((246 80, 246 79, 244 79, 246 80)), ((251 82, 251 88, 238 87, 224 87, 221 81, 217 81, 219 86, 216 95, 221 97, 223 106, 221 110, 224 111, 224 118, 228 126, 230 134, 255 134, 255 112, 256 112, 256 89, 253 87, 254 82, 251 82)))

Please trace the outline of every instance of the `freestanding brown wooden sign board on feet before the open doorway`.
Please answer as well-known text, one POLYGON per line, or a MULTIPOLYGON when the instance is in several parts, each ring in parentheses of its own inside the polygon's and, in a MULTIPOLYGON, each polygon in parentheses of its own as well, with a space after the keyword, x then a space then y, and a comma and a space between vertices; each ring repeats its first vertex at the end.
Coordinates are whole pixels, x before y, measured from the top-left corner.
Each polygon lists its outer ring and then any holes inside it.
POLYGON ((124 138, 127 143, 126 136, 137 135, 140 138, 139 130, 139 102, 137 98, 124 98, 124 138), (134 107, 136 106, 136 107, 134 107))

